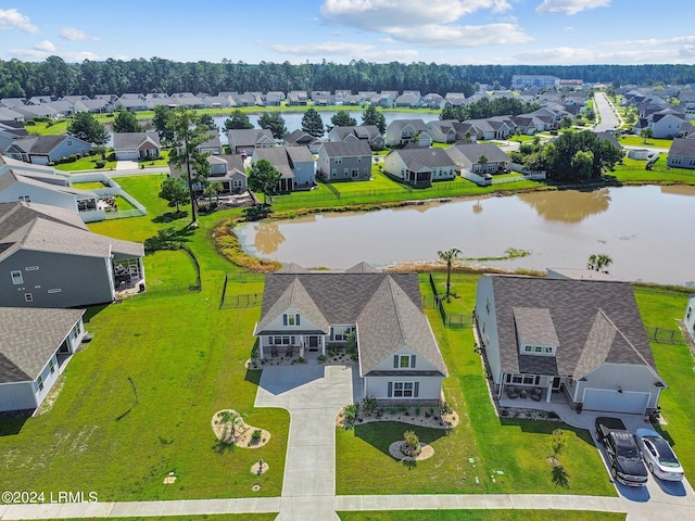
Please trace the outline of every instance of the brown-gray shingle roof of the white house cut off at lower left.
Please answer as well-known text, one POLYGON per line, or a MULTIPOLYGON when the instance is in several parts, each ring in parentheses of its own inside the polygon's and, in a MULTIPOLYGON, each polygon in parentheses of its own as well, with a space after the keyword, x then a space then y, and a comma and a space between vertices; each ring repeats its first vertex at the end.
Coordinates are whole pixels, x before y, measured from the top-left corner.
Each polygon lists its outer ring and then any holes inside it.
POLYGON ((84 313, 0 307, 0 383, 35 381, 84 313))

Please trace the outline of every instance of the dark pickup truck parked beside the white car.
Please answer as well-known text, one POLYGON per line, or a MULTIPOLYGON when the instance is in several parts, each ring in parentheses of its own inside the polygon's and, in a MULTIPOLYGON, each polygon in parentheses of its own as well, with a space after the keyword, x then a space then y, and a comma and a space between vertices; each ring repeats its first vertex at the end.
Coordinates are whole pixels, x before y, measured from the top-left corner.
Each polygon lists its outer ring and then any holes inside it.
POLYGON ((606 447, 610 475, 628 486, 645 486, 647 468, 634 440, 619 418, 596 418, 596 440, 606 447))

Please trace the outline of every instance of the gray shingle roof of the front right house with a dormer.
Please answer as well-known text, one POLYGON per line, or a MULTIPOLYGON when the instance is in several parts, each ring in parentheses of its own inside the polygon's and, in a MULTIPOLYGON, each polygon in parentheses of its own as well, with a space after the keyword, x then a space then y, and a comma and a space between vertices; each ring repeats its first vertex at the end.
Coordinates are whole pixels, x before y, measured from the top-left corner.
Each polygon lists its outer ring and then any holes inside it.
MULTIPOLYGON (((606 363, 648 365, 656 371, 629 282, 514 276, 491 278, 504 372, 579 379, 606 363), (549 334, 549 316, 558 341, 556 356, 519 354, 519 322, 515 319, 519 308, 547 310, 547 315, 533 312, 535 319, 526 323, 530 323, 533 331, 549 334)), ((521 326, 523 331, 526 327, 521 326)), ((547 340, 547 336, 543 338, 547 340)))

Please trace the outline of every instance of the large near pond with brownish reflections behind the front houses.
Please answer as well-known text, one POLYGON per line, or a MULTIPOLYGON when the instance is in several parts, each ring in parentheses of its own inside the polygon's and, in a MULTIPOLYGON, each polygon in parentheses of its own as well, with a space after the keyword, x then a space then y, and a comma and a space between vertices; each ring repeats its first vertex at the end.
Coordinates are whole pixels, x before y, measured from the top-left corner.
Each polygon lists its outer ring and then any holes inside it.
POLYGON ((505 269, 583 268, 608 254, 626 280, 695 285, 695 188, 629 187, 531 192, 371 213, 323 214, 236 229, 255 256, 342 269, 428 260, 458 247, 470 264, 505 269), (509 247, 530 255, 506 260, 509 247))

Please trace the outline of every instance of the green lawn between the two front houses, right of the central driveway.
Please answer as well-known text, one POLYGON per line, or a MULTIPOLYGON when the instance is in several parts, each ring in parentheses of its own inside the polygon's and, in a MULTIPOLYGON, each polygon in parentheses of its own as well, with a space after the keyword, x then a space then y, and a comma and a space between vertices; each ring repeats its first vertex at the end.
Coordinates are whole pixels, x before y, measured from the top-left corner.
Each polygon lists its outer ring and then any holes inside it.
MULTIPOLYGON (((459 275, 455 282, 459 305, 468 314, 472 310, 477 278, 459 275)), ((422 282, 420 288, 431 295, 428 284, 422 282)), ((552 491, 615 495, 607 478, 595 472, 603 463, 587 431, 551 421, 501 420, 490 403, 481 359, 473 350, 472 331, 444 329, 437 310, 426 313, 448 367, 444 393, 452 408, 459 414, 460 423, 448 434, 415 429, 421 440, 433 446, 434 456, 407 469, 389 456, 388 446, 402 439, 409 425, 368 423, 357 424, 352 431, 338 429, 339 494, 552 491), (560 456, 566 474, 554 480, 547 457, 551 433, 556 428, 566 431, 568 442, 560 456), (404 473, 407 473, 406 480, 404 473)))

